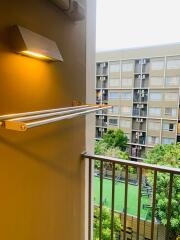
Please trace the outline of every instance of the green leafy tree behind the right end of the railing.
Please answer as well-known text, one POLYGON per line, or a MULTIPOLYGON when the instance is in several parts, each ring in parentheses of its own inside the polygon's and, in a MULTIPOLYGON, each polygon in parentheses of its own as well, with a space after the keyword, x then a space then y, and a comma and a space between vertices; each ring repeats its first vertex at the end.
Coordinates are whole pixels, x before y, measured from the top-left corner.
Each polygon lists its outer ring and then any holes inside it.
MULTIPOLYGON (((146 154, 147 163, 180 168, 180 144, 156 145, 146 154)), ((148 174, 148 180, 153 185, 153 173, 148 174)), ((167 206, 169 192, 169 174, 158 173, 156 193, 156 217, 163 225, 167 224, 167 206)), ((180 176, 173 178, 171 204, 171 239, 180 234, 180 176)))

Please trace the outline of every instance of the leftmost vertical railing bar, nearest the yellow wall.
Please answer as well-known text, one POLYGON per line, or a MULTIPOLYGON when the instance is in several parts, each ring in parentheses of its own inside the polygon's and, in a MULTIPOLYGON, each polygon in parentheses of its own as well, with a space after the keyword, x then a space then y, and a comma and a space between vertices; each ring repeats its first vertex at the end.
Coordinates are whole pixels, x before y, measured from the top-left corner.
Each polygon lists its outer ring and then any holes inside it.
POLYGON ((92 229, 91 229, 91 223, 92 223, 92 219, 91 219, 91 210, 92 210, 92 206, 91 206, 91 201, 92 201, 92 159, 89 158, 89 232, 88 232, 88 239, 91 240, 92 235, 92 229))

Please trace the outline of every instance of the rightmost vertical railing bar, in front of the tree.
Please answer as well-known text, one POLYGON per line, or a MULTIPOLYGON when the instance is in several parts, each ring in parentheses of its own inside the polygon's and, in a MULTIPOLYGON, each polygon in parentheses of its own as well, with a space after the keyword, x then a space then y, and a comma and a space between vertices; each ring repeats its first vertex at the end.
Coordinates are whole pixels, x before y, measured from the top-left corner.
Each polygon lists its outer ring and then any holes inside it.
POLYGON ((173 187, 173 173, 170 173, 169 194, 168 194, 168 208, 167 208, 167 225, 166 225, 166 240, 169 240, 169 228, 171 220, 171 201, 172 201, 172 187, 173 187))

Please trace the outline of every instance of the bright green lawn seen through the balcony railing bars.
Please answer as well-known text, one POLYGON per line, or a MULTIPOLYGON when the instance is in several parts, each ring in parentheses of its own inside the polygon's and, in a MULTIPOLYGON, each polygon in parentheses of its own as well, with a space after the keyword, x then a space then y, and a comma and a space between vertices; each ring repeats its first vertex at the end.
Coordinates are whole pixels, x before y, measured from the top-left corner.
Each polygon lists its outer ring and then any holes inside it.
MULTIPOLYGON (((99 193, 100 193, 100 179, 94 177, 94 200, 95 204, 99 205, 99 193)), ((117 182, 115 184, 115 211, 123 212, 124 208, 124 192, 125 184, 117 182)), ((111 208, 111 196, 112 196, 112 181, 103 179, 103 202, 104 205, 111 208)), ((150 209, 143 209, 143 204, 150 204, 147 196, 141 197, 141 218, 146 219, 146 215, 150 209)), ((138 187, 134 185, 128 185, 128 209, 129 215, 137 216, 138 206, 138 187)))

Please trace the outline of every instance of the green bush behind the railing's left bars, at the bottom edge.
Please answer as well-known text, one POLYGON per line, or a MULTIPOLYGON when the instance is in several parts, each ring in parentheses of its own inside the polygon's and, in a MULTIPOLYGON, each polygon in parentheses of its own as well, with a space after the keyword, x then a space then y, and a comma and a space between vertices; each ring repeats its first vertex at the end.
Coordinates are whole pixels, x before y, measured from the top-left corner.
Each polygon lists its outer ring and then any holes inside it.
MULTIPOLYGON (((99 239, 99 219, 100 219, 100 209, 94 209, 94 240, 99 239)), ((121 231, 121 222, 120 216, 114 214, 114 236, 113 239, 116 239, 116 234, 121 231)), ((102 239, 109 240, 111 239, 111 210, 105 206, 102 207, 102 239)))

